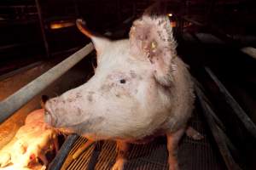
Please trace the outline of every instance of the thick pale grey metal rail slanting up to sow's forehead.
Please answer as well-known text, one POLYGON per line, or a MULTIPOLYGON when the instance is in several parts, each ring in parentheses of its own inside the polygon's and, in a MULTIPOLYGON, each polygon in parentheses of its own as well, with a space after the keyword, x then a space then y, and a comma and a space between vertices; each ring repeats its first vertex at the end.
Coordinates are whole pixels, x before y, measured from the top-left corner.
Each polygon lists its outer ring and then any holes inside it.
POLYGON ((90 42, 84 48, 81 48, 76 53, 72 54, 67 59, 61 61, 58 65, 45 72, 40 77, 28 83, 25 87, 20 88, 15 94, 10 95, 0 103, 0 122, 5 121, 9 116, 12 116, 20 107, 26 105, 34 96, 47 88, 50 83, 54 82, 58 77, 61 77, 73 65, 76 65, 81 59, 94 49, 90 42))

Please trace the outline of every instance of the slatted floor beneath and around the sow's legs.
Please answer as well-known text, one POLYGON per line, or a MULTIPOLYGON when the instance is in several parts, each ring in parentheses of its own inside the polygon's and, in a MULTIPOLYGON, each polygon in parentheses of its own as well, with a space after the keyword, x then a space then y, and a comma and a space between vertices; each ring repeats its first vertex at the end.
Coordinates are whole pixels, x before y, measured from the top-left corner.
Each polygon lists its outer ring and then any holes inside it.
MULTIPOLYGON (((207 135, 207 127, 201 122, 201 114, 195 112, 189 122, 205 138, 199 141, 184 136, 178 148, 178 160, 181 170, 224 170, 224 162, 217 147, 212 144, 211 136, 207 135)), ((77 160, 72 160, 73 153, 83 145, 86 139, 80 137, 73 146, 61 170, 78 169, 111 169, 115 161, 115 143, 104 141, 94 144, 82 153, 77 160)), ((149 144, 132 144, 129 161, 125 170, 165 170, 167 165, 166 139, 160 137, 149 144)))

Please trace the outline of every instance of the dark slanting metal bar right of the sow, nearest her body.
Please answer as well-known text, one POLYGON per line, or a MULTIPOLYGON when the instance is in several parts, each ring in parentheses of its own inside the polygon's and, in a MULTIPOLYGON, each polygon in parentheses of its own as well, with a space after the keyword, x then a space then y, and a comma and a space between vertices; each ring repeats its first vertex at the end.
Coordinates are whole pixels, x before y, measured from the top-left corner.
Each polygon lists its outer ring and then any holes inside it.
POLYGON ((199 99, 199 102, 201 104, 202 112, 204 113, 205 118, 207 119, 207 124, 209 125, 213 138, 215 139, 215 142, 218 145, 218 149, 220 151, 220 154, 224 158, 224 162, 229 170, 241 170, 241 167, 239 167, 236 164, 236 161, 233 159, 233 157, 230 154, 230 150, 228 148, 228 145, 226 144, 227 139, 224 133, 219 130, 218 125, 214 122, 212 114, 215 114, 212 111, 212 108, 207 104, 207 102, 204 100, 206 96, 201 91, 201 88, 195 85, 195 92, 199 99))

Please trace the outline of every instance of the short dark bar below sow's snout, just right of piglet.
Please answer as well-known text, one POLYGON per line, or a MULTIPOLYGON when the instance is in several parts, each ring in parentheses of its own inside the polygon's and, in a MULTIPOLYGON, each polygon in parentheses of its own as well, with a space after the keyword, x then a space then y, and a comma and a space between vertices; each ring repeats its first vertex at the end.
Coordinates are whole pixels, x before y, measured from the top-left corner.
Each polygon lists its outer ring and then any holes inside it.
POLYGON ((72 149, 73 144, 79 138, 78 134, 71 134, 67 137, 64 144, 61 145, 61 149, 58 151, 55 159, 49 164, 49 170, 59 170, 65 161, 67 154, 72 149))

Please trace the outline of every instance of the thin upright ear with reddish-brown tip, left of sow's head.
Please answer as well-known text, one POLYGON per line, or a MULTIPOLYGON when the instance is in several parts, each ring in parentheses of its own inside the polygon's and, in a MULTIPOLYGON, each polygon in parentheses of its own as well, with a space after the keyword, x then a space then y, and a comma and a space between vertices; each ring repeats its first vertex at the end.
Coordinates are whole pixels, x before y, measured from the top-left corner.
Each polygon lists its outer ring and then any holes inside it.
POLYGON ((106 37, 102 37, 95 32, 90 31, 87 29, 86 24, 84 20, 78 19, 76 21, 77 27, 79 28, 79 31, 81 31, 86 37, 90 37, 91 41, 94 44, 94 47, 96 48, 96 52, 98 54, 102 54, 102 51, 104 51, 105 48, 108 47, 109 40, 106 37))

